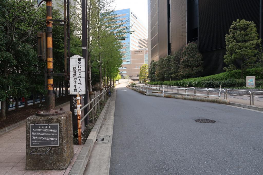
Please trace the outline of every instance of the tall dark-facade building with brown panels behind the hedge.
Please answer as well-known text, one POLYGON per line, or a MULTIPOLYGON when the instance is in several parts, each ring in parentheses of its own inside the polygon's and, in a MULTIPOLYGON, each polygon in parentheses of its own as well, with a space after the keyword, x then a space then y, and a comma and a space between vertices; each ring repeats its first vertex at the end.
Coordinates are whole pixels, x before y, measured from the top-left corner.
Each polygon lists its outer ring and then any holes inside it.
POLYGON ((225 35, 233 21, 254 21, 262 38, 262 0, 148 0, 148 8, 149 61, 194 42, 204 61, 199 76, 224 72, 225 35))

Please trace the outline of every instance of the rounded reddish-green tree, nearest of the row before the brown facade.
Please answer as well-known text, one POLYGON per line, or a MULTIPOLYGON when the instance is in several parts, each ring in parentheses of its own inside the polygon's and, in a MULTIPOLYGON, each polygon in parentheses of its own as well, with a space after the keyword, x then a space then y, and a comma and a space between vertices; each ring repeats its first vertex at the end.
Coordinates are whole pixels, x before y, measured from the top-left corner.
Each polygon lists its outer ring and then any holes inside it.
POLYGON ((180 78, 189 78, 203 71, 202 55, 198 51, 195 43, 189 43, 181 52, 181 60, 178 75, 180 78))

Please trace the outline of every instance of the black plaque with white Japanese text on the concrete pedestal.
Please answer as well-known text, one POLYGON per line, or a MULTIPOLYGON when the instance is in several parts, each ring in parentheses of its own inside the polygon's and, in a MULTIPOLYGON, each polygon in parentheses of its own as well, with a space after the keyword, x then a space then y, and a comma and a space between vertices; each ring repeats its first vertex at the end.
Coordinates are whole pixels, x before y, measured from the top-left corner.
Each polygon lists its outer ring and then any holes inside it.
POLYGON ((59 146, 59 124, 30 124, 30 147, 59 146))

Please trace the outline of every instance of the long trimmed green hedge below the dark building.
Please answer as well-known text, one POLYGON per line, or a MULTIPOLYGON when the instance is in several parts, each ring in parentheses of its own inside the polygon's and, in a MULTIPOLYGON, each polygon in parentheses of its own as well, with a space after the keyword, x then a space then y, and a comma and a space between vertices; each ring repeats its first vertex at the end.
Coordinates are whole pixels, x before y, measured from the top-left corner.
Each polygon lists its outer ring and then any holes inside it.
MULTIPOLYGON (((223 72, 215 75, 198 78, 188 78, 176 81, 157 81, 148 82, 148 84, 166 85, 166 86, 194 86, 194 87, 210 87, 218 88, 221 85, 222 88, 228 87, 242 87, 246 86, 245 79, 240 78, 241 70, 234 70, 229 72, 223 72)), ((247 69, 244 72, 246 76, 256 76, 256 79, 260 79, 260 68, 247 69)), ((263 82, 256 82, 256 86, 262 86, 263 82)))

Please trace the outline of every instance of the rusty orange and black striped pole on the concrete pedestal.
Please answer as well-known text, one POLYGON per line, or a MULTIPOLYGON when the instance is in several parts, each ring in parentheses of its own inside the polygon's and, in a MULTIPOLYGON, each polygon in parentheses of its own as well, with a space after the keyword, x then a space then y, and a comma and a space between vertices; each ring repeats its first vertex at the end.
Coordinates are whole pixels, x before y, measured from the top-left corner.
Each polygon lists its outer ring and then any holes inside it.
POLYGON ((52 1, 47 0, 47 73, 48 73, 48 94, 47 94, 47 110, 51 111, 55 108, 55 96, 54 96, 54 85, 53 85, 53 76, 50 76, 50 73, 53 73, 53 36, 52 36, 52 1))

